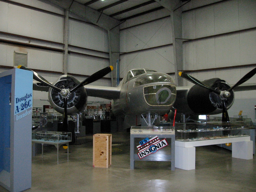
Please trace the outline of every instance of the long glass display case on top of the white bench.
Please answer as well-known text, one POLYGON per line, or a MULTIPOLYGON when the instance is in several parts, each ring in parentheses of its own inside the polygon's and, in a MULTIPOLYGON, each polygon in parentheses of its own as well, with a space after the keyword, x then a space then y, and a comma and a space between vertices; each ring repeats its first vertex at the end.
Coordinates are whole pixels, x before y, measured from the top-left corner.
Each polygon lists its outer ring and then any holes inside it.
MULTIPOLYGON (((220 117, 221 118, 221 117, 220 117)), ((175 140, 196 141, 248 136, 245 129, 253 129, 250 118, 233 118, 230 122, 216 121, 218 117, 201 123, 176 123, 175 140)))

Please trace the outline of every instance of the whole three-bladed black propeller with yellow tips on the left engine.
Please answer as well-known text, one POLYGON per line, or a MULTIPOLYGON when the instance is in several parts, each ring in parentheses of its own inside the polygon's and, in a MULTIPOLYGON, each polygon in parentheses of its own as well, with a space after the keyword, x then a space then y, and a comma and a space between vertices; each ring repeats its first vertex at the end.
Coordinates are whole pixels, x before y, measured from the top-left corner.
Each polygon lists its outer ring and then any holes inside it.
POLYGON ((52 87, 53 89, 60 92, 60 95, 63 99, 63 104, 64 104, 63 128, 65 130, 68 130, 68 97, 69 97, 70 93, 75 92, 78 88, 80 88, 84 85, 87 85, 89 83, 92 83, 92 82, 100 79, 101 77, 107 75, 109 72, 111 72, 113 70, 113 66, 108 66, 106 68, 103 68, 103 69, 97 71, 96 73, 92 74, 88 78, 86 78, 84 81, 82 81, 80 84, 76 85, 71 90, 69 90, 68 88, 60 89, 60 88, 52 85, 46 79, 44 79, 44 77, 40 76, 38 73, 36 73, 35 71, 33 71, 29 68, 26 68, 22 65, 18 66, 18 68, 25 69, 25 70, 28 70, 28 71, 32 71, 33 72, 33 79, 35 79, 36 81, 39 81, 40 83, 45 84, 49 87, 52 87))

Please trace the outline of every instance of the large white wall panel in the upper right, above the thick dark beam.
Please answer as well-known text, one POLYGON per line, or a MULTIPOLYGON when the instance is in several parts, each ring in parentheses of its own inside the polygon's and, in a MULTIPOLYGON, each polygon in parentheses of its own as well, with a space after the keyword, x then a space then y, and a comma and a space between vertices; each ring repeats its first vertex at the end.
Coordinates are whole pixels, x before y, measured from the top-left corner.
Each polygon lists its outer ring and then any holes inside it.
MULTIPOLYGON (((191 1, 192 4, 211 1, 191 1)), ((204 4, 203 3, 203 4, 204 4)), ((202 4, 202 5, 203 5, 202 4)), ((183 38, 199 38, 256 26, 255 0, 229 0, 182 14, 183 38), (195 36, 194 36, 195 33, 195 36)))

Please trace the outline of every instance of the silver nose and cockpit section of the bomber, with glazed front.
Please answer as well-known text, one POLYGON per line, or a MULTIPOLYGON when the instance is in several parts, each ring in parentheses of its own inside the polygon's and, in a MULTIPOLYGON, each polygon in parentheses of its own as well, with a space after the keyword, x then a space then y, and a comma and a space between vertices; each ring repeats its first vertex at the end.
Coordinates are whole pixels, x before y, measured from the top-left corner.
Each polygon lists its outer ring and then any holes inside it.
POLYGON ((171 76, 150 72, 130 79, 124 78, 120 98, 112 100, 112 111, 115 115, 162 115, 170 111, 176 99, 176 86, 171 76), (126 82, 124 82, 126 81, 126 82))

